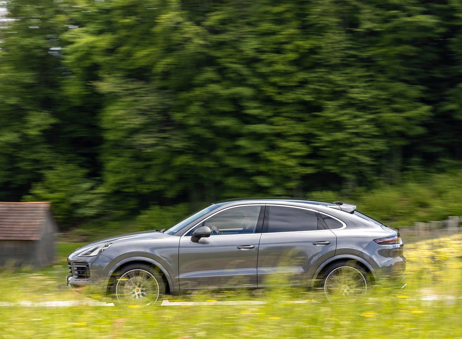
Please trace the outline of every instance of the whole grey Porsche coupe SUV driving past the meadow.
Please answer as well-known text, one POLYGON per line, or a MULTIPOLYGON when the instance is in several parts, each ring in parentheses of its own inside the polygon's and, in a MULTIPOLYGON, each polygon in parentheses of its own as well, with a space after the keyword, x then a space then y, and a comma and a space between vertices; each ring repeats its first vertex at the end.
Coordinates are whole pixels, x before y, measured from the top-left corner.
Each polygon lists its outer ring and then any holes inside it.
POLYGON ((363 297, 381 278, 404 287, 398 230, 355 209, 302 199, 221 201, 168 229, 76 249, 66 283, 98 300, 141 304, 165 293, 281 281, 320 288, 331 302, 363 297))

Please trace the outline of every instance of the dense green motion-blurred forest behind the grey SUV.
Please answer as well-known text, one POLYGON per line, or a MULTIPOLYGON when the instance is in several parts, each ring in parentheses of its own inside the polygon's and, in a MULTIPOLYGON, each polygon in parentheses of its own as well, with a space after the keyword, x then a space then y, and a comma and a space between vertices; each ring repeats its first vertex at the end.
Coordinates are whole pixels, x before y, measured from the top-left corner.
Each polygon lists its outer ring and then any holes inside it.
POLYGON ((458 0, 3 6, 0 200, 63 228, 462 167, 458 0))

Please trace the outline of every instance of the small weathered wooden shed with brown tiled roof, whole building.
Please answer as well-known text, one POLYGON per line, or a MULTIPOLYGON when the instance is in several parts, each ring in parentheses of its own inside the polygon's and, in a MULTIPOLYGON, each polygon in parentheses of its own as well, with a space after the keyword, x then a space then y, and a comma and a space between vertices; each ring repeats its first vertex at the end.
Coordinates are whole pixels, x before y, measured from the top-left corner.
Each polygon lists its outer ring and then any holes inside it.
POLYGON ((57 226, 49 202, 0 202, 0 266, 51 265, 57 226))

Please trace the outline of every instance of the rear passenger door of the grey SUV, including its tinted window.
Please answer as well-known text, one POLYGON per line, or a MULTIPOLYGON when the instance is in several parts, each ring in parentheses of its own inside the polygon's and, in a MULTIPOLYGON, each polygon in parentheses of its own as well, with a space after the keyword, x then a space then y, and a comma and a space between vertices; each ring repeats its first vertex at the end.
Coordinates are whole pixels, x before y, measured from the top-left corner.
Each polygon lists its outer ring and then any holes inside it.
POLYGON ((267 205, 258 253, 258 286, 309 285, 316 268, 335 255, 336 241, 315 211, 267 205))

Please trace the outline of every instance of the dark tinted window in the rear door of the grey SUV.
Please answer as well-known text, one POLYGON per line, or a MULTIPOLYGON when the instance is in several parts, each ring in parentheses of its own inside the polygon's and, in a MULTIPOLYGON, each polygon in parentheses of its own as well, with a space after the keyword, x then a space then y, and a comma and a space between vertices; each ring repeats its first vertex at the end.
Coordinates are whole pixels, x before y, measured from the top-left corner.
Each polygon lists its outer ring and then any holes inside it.
POLYGON ((297 232, 318 229, 316 213, 300 208, 267 206, 268 232, 297 232))

